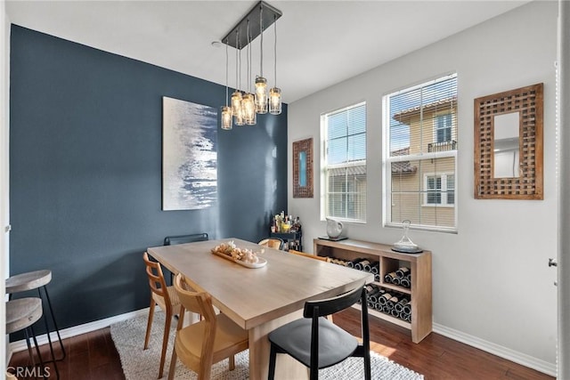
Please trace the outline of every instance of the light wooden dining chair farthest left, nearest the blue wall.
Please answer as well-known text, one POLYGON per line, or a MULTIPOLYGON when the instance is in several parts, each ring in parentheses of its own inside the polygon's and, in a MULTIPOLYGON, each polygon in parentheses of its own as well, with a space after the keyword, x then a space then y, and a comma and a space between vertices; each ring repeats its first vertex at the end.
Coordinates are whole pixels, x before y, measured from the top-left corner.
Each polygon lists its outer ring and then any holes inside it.
POLYGON ((159 378, 162 377, 164 370, 164 362, 167 357, 168 336, 170 333, 170 322, 175 314, 180 315, 180 301, 175 292, 174 287, 167 287, 167 283, 162 274, 160 263, 152 262, 149 255, 145 252, 142 255, 144 264, 146 265, 146 274, 149 278, 151 286, 151 308, 149 310, 149 321, 146 326, 146 336, 144 337, 144 350, 149 347, 149 338, 151 337, 152 319, 154 318, 154 308, 158 304, 159 308, 166 314, 164 324, 164 336, 162 337, 162 352, 160 353, 159 378))

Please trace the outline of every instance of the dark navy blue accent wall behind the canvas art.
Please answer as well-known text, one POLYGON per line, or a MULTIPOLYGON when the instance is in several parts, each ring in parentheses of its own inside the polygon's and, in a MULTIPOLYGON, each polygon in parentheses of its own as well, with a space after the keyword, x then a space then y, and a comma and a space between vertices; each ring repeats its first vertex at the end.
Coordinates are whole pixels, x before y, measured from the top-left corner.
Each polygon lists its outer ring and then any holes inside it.
POLYGON ((218 130, 217 206, 161 211, 162 97, 217 109, 223 85, 15 25, 10 64, 10 273, 53 271, 60 328, 148 307, 165 236, 258 241, 287 210, 286 105, 218 130))

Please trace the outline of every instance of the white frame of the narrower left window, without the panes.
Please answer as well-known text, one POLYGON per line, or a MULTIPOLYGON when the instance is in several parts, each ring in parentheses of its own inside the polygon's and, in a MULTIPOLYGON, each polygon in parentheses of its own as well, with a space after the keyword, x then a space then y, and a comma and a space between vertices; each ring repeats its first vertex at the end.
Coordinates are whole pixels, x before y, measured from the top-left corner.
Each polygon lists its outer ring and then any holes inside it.
MULTIPOLYGON (((348 136, 351 136, 354 134, 346 134, 346 138, 348 136)), ((352 105, 343 107, 343 108, 339 108, 339 109, 332 109, 330 111, 324 112, 321 114, 321 221, 325 221, 327 218, 333 218, 335 220, 338 221, 342 221, 342 222, 349 222, 349 223, 354 223, 354 224, 365 224, 367 222, 367 203, 368 203, 368 103, 367 101, 358 101, 352 105), (349 109, 355 109, 357 107, 361 107, 364 106, 364 116, 366 117, 366 124, 365 124, 365 130, 364 130, 364 136, 365 136, 365 143, 364 143, 364 150, 365 150, 365 155, 364 155, 364 159, 363 160, 357 160, 357 161, 347 161, 346 163, 340 163, 340 164, 329 164, 328 163, 328 123, 327 123, 327 117, 329 117, 330 115, 333 114, 338 114, 340 112, 344 112, 347 111, 349 109), (329 191, 329 177, 328 177, 328 171, 330 169, 338 169, 338 168, 350 168, 350 167, 354 167, 354 166, 365 166, 366 167, 366 186, 365 186, 365 191, 364 191, 364 202, 363 202, 363 208, 364 208, 364 215, 362 219, 354 219, 354 218, 346 218, 346 217, 338 217, 338 216, 330 216, 329 215, 329 208, 328 208, 328 196, 330 194, 329 191)), ((346 188, 347 189, 347 188, 346 188)), ((362 194, 362 193, 354 193, 354 192, 350 192, 350 191, 345 191, 344 194, 346 196, 350 196, 353 194, 362 194)))

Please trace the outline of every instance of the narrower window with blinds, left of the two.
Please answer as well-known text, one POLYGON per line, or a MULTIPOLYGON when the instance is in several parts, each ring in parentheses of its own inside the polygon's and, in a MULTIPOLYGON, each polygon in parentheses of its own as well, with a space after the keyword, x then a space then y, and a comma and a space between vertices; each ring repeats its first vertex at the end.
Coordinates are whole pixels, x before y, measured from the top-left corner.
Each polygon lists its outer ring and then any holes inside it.
POLYGON ((322 214, 366 221, 366 103, 322 116, 322 214))

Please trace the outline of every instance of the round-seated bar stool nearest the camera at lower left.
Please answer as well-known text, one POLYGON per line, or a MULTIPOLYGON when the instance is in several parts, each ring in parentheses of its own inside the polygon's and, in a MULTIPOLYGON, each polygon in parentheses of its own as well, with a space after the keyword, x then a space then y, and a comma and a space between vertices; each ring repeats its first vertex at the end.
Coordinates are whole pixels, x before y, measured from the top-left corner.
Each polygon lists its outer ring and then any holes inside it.
MULTIPOLYGON (((37 319, 42 318, 44 310, 42 308, 42 300, 37 297, 27 297, 20 298, 17 300, 10 300, 6 303, 6 334, 12 334, 21 330, 24 330, 26 335, 26 344, 28 344, 28 355, 32 362, 34 368, 34 373, 37 377, 38 373, 42 377, 46 378, 50 376, 49 371, 45 370, 45 362, 42 360, 42 355, 39 352, 39 346, 37 345, 36 333, 34 333, 34 323, 37 319), (39 360, 39 372, 36 367, 36 360, 34 360, 34 353, 32 352, 31 344, 29 343, 29 338, 32 338, 34 345, 36 346, 37 359, 39 360)), ((57 378, 60 378, 60 373, 55 364, 55 358, 53 357, 52 350, 52 360, 53 368, 55 368, 55 373, 57 378)))

